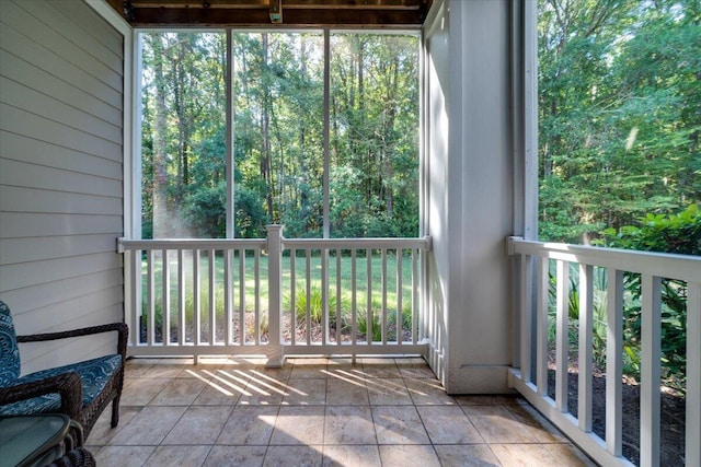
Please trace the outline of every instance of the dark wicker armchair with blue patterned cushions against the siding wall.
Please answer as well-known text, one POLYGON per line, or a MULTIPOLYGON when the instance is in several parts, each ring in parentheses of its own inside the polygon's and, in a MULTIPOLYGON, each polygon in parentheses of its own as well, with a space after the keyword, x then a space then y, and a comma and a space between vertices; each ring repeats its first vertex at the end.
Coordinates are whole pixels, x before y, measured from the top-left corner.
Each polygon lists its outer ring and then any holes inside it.
POLYGON ((83 427, 87 439, 112 402, 112 427, 119 422, 128 328, 113 323, 81 329, 18 336, 10 308, 0 301, 0 416, 65 413, 83 427), (117 353, 20 376, 18 342, 39 342, 117 332, 117 353))

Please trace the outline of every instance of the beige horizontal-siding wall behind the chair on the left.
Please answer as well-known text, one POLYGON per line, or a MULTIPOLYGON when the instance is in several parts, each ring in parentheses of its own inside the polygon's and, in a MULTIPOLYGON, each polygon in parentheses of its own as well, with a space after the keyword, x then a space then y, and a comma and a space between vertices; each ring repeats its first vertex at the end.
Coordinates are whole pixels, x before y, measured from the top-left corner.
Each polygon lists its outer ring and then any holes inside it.
MULTIPOLYGON (((82 1, 0 1, 0 300, 19 334, 123 319, 123 36, 82 1)), ((22 370, 106 350, 24 346, 22 370)))

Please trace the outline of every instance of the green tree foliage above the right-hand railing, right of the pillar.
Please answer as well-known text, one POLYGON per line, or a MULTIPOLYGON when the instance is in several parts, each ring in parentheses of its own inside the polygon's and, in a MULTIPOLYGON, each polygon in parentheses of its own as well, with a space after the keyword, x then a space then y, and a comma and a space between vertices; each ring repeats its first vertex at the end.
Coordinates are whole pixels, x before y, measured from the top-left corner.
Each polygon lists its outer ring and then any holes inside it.
POLYGON ((699 3, 539 0, 540 237, 701 200, 699 3))

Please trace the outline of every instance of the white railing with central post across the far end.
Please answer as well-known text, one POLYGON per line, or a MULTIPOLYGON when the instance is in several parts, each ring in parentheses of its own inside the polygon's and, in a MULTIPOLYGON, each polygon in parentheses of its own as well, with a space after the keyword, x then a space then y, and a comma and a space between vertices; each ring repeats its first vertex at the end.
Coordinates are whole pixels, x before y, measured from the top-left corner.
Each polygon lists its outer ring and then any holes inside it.
POLYGON ((130 355, 423 354, 430 238, 125 240, 130 355))

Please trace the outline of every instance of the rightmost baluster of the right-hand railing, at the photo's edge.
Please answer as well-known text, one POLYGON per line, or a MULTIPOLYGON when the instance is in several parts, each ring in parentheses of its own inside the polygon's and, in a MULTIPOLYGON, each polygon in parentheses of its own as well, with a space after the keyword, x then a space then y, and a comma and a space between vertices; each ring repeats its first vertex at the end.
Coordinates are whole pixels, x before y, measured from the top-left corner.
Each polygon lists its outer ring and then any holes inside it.
POLYGON ((701 282, 687 282, 687 441, 688 466, 701 465, 701 282))

